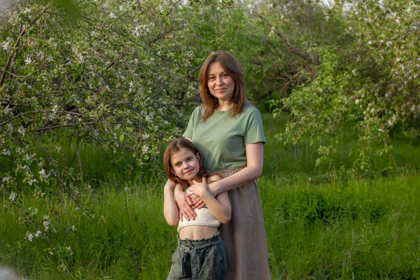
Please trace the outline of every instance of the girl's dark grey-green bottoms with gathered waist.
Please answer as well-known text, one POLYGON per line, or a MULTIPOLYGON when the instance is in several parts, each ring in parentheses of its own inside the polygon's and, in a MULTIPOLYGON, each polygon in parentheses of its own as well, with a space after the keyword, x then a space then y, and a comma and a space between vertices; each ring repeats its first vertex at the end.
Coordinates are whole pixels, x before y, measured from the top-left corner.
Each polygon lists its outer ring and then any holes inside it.
POLYGON ((178 239, 172 254, 172 267, 167 280, 225 278, 228 263, 225 244, 218 232, 214 237, 200 240, 178 239))

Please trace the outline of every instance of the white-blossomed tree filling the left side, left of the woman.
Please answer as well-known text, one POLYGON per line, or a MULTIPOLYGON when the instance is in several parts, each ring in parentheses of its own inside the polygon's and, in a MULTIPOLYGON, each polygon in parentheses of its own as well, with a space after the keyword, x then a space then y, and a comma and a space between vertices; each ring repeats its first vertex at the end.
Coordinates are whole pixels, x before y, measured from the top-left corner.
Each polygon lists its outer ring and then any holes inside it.
POLYGON ((46 241, 64 271, 72 252, 55 233, 76 228, 59 218, 63 197, 97 221, 83 199, 93 190, 80 147, 160 166, 162 145, 195 106, 204 58, 246 45, 237 36, 250 12, 232 3, 19 1, 1 11, 0 190, 5 207, 20 209, 27 241, 46 241))

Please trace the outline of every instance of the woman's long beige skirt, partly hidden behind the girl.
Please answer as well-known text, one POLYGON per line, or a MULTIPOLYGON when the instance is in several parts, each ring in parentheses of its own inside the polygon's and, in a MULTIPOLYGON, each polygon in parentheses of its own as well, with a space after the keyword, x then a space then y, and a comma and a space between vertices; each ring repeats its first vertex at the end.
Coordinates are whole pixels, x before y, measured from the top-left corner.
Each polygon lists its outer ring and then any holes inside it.
MULTIPOLYGON (((242 168, 209 172, 228 177, 242 168)), ((255 180, 229 190, 232 204, 230 223, 219 228, 228 256, 225 280, 271 279, 268 268, 267 237, 260 193, 255 180)))

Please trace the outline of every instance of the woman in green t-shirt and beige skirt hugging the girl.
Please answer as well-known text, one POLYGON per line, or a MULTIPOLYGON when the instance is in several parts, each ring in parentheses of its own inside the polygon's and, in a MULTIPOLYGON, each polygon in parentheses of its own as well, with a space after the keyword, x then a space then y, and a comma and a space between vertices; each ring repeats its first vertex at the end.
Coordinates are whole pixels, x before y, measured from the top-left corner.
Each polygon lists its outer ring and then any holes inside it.
MULTIPOLYGON (((265 143, 260 112, 247 101, 244 71, 229 52, 209 55, 199 81, 202 106, 193 111, 183 137, 193 141, 202 153, 204 168, 223 177, 209 183, 211 194, 229 193, 232 218, 220 228, 228 255, 225 279, 271 279, 255 182, 262 173, 265 143)), ((187 220, 194 218, 193 208, 203 203, 199 197, 187 201, 180 186, 176 187, 175 199, 180 218, 187 220)))

